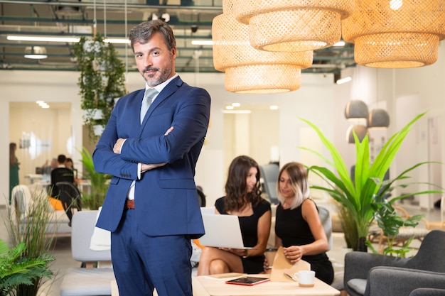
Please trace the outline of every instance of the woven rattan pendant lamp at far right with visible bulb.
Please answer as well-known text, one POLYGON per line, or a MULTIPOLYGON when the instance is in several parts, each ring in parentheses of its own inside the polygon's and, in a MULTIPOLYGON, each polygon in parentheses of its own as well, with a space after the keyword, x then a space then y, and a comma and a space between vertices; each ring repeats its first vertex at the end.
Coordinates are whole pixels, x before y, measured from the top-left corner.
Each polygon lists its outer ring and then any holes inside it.
POLYGON ((445 1, 355 0, 355 11, 343 19, 342 31, 344 40, 355 43, 359 65, 431 65, 445 37, 445 1))

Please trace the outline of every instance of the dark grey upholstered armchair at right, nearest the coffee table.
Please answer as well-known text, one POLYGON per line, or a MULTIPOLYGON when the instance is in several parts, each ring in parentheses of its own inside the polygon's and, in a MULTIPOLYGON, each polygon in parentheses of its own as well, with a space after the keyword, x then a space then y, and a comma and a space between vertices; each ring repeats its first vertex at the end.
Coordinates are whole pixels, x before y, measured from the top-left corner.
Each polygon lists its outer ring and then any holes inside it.
POLYGON ((364 252, 345 255, 345 290, 350 296, 406 295, 419 287, 445 288, 445 231, 424 237, 412 258, 364 252), (385 271, 387 270, 387 271, 385 271), (429 280, 420 279, 428 275, 429 280), (440 283, 439 283, 440 282, 440 283))

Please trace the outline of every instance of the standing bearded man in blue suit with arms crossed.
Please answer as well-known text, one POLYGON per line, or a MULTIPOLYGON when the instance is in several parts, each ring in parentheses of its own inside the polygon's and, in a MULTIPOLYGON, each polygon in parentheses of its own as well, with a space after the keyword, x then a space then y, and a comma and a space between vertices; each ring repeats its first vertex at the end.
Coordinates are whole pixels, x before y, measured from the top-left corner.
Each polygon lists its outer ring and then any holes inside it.
POLYGON ((112 231, 120 296, 152 295, 155 287, 160 296, 191 296, 191 239, 204 234, 195 164, 210 96, 175 73, 166 23, 141 23, 129 39, 146 89, 118 100, 93 153, 97 172, 113 176, 97 227, 112 231))

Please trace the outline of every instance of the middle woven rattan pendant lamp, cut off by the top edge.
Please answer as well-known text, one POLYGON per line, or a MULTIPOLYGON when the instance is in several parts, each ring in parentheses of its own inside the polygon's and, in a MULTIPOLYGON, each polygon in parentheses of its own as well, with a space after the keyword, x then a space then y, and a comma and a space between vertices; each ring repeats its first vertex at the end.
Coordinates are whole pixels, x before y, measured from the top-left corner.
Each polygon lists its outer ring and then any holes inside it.
POLYGON ((258 50, 303 51, 326 48, 341 39, 341 19, 353 0, 233 0, 238 21, 249 24, 258 50))

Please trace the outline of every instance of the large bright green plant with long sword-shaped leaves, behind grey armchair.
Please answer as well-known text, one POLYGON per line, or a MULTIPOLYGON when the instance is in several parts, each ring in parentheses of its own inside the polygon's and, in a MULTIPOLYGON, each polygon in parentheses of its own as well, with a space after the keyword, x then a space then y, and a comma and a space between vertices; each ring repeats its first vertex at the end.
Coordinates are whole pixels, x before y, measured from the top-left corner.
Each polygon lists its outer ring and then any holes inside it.
MULTIPOLYGON (((349 222, 343 220, 343 223, 353 223, 354 226, 351 226, 351 231, 356 231, 352 234, 352 237, 358 238, 355 241, 350 241, 352 244, 352 248, 354 251, 366 251, 367 247, 365 244, 366 237, 368 236, 368 231, 372 221, 375 219, 375 212, 380 203, 379 199, 375 197, 380 195, 381 197, 386 197, 395 187, 407 187, 408 184, 397 184, 396 182, 407 180, 408 172, 411 172, 415 168, 431 163, 431 162, 423 162, 417 163, 413 165, 411 168, 404 170, 400 175, 395 177, 388 182, 383 182, 383 178, 385 173, 390 168, 392 160, 394 160, 397 151, 404 138, 407 136, 409 131, 411 130, 412 125, 425 113, 419 114, 412 121, 404 126, 400 131, 395 133, 385 145, 380 150, 380 153, 375 158, 373 163, 370 163, 370 148, 368 135, 363 138, 363 141, 359 141, 357 135, 354 133, 355 138, 355 180, 352 180, 348 169, 346 168, 345 162, 343 158, 341 158, 340 153, 336 147, 331 143, 331 141, 323 135, 321 130, 312 124, 310 121, 302 119, 304 122, 309 124, 316 133, 318 137, 321 139, 323 145, 328 149, 333 161, 330 161, 324 158, 322 155, 313 151, 309 148, 302 148, 305 150, 309 150, 316 155, 323 158, 331 168, 321 167, 321 166, 312 166, 309 168, 309 172, 313 172, 316 175, 320 176, 323 180, 326 181, 328 185, 326 186, 311 186, 317 190, 324 190, 328 192, 328 194, 333 197, 333 199, 340 204, 341 207, 344 207, 345 211, 350 215, 349 222)), ((402 194, 398 197, 393 197, 387 202, 392 204, 395 201, 402 199, 407 196, 417 195, 417 194, 429 194, 429 193, 441 193, 441 191, 436 190, 427 190, 422 192, 415 192, 409 194, 402 194)), ((348 234, 345 233, 345 236, 348 234)))

